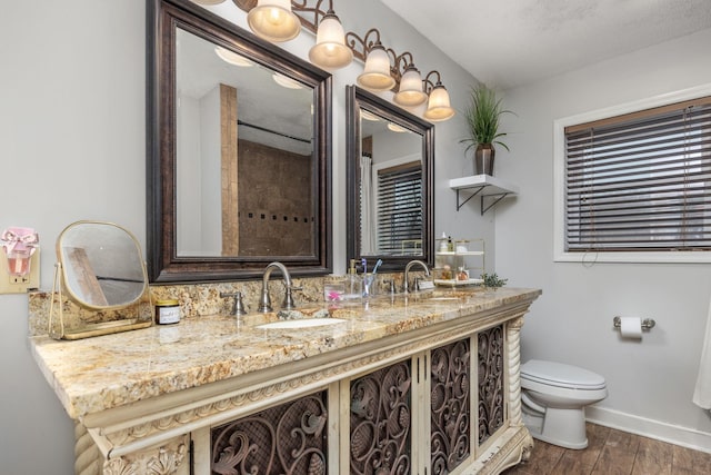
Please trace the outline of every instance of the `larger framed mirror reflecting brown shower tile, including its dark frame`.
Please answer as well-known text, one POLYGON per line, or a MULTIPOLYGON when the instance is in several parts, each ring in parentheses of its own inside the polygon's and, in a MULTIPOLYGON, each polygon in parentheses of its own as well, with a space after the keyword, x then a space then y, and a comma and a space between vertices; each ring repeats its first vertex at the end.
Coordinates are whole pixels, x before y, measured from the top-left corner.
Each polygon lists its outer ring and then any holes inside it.
POLYGON ((331 76, 187 0, 149 1, 154 283, 331 270, 331 76))

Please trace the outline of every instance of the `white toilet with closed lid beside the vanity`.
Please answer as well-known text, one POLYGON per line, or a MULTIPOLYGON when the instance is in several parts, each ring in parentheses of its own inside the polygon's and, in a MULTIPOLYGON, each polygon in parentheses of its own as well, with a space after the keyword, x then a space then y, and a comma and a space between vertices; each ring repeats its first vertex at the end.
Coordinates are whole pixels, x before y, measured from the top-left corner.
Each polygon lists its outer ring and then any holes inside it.
POLYGON ((604 378, 561 363, 531 359, 521 366, 523 423, 531 435, 567 448, 585 448, 585 406, 608 396, 604 378))

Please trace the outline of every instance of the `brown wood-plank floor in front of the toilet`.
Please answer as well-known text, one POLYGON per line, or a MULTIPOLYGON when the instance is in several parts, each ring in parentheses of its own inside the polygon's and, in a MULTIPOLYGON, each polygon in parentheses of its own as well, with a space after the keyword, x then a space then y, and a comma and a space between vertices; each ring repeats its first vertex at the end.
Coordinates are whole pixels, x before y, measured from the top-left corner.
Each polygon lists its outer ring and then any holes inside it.
POLYGON ((572 451, 534 441, 531 458, 504 475, 711 474, 711 454, 588 424, 588 448, 572 451))

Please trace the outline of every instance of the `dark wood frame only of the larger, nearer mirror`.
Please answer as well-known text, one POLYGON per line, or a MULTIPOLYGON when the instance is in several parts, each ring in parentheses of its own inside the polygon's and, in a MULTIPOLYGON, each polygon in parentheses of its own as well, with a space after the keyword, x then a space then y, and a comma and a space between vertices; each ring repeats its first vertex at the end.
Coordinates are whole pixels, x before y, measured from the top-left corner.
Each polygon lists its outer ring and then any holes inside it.
POLYGON ((188 0, 147 0, 147 260, 151 283, 261 277, 273 260, 292 276, 332 270, 331 75, 188 0), (176 230, 176 30, 200 36, 313 88, 314 254, 309 256, 178 256, 176 230))

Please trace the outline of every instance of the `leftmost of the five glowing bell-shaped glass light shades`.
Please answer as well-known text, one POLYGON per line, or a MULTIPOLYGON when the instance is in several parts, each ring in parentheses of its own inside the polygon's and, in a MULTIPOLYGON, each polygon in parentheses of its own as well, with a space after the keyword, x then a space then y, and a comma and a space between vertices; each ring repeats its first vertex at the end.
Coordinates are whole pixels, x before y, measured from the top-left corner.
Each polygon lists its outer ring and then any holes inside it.
POLYGON ((254 34, 269 41, 288 41, 301 31, 301 21, 291 11, 291 0, 259 0, 247 13, 254 34))

